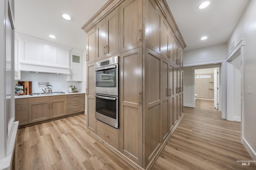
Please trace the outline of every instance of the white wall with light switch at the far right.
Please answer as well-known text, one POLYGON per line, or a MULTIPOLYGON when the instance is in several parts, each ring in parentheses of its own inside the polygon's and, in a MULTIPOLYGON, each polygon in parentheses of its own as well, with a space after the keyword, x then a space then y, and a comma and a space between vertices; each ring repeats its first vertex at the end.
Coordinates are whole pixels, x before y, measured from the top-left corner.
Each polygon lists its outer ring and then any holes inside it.
POLYGON ((253 160, 256 160, 256 0, 251 0, 234 29, 228 41, 230 44, 235 39, 235 46, 241 39, 245 39, 244 46, 244 146, 253 160), (248 93, 248 86, 252 87, 252 94, 248 93))

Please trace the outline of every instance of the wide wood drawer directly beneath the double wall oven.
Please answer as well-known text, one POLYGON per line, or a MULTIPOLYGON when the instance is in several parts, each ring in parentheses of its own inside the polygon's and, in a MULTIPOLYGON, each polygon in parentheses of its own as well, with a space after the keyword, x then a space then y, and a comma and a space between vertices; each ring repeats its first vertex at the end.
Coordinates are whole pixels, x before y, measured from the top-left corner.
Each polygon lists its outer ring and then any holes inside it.
POLYGON ((110 127, 101 121, 96 121, 96 135, 115 149, 118 149, 118 134, 118 130, 114 127, 110 127))

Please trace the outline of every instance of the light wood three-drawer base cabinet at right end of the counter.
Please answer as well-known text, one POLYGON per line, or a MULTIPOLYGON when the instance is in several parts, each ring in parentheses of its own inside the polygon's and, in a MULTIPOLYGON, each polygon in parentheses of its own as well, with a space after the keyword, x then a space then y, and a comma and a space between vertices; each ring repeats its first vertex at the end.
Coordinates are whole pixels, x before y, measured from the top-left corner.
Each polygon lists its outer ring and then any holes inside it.
POLYGON ((84 94, 67 95, 67 114, 74 114, 84 112, 85 98, 84 94))

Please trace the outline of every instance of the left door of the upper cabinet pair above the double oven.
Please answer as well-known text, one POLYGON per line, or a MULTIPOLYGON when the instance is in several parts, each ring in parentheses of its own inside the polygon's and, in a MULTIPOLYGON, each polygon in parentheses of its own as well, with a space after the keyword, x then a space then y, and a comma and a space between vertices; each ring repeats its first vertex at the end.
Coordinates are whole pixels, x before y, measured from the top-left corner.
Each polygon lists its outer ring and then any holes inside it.
POLYGON ((106 58, 106 18, 96 25, 96 61, 106 58))

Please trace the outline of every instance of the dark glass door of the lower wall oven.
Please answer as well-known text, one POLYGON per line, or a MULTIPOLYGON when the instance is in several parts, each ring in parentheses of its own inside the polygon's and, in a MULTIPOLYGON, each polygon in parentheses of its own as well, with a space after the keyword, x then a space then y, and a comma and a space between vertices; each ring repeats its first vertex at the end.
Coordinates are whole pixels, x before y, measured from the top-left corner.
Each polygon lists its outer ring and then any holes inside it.
POLYGON ((117 119, 118 100, 115 96, 98 96, 96 97, 96 112, 117 119))

